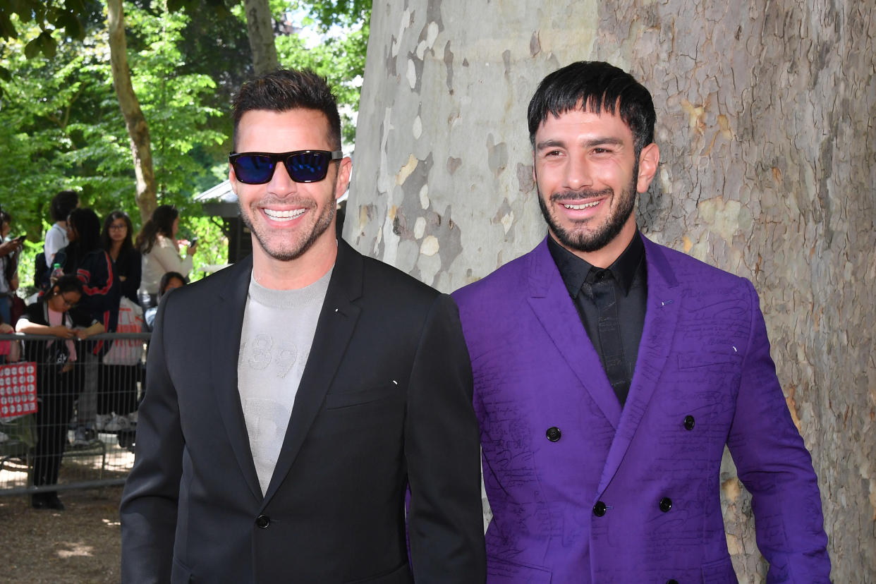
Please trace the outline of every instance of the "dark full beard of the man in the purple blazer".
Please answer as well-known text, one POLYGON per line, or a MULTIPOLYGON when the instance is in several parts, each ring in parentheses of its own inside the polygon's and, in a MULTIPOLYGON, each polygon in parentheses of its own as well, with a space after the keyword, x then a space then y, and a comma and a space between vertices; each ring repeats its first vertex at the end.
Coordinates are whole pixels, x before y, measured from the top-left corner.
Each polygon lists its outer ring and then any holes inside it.
MULTIPOLYGON (((638 174, 639 162, 637 160, 632 168, 632 179, 630 180, 630 184, 620 192, 619 197, 616 196, 616 193, 610 186, 600 191, 582 189, 580 191, 566 191, 564 193, 552 193, 550 195, 551 202, 557 205, 562 205, 562 201, 580 201, 581 199, 590 199, 600 196, 610 196, 612 201, 617 200, 618 207, 611 212, 611 215, 608 216, 602 225, 597 226, 595 229, 587 231, 584 229, 573 230, 562 227, 562 225, 555 220, 554 216, 550 214, 548 205, 545 203, 545 198, 540 189, 538 189, 538 183, 536 181, 541 215, 543 215, 545 221, 548 222, 548 227, 554 233, 557 240, 559 240, 559 242, 562 243, 562 246, 566 249, 583 251, 584 253, 592 253, 597 250, 602 250, 618 236, 622 229, 624 229, 626 222, 629 220, 630 215, 632 215, 632 210, 636 207, 636 185, 638 182, 636 177, 638 174)), ((604 203, 600 204, 602 205, 604 203)))

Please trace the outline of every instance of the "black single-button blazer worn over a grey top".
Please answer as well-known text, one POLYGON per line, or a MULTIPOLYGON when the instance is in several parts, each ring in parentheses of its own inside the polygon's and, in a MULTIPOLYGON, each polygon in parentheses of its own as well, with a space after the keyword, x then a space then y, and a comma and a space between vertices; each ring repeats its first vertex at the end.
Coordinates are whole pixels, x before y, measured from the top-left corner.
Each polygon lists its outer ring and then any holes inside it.
POLYGON ((251 258, 162 301, 122 500, 124 582, 483 582, 456 304, 340 242, 265 496, 237 390, 251 258))

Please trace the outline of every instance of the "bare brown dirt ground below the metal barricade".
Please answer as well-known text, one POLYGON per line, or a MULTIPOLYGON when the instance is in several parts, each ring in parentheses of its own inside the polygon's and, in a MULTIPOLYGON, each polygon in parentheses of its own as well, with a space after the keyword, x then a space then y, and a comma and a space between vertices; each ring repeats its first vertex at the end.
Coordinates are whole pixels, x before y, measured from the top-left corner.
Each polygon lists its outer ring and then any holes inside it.
POLYGON ((0 496, 0 582, 119 581, 121 487, 59 493, 67 509, 35 510, 29 496, 0 496))

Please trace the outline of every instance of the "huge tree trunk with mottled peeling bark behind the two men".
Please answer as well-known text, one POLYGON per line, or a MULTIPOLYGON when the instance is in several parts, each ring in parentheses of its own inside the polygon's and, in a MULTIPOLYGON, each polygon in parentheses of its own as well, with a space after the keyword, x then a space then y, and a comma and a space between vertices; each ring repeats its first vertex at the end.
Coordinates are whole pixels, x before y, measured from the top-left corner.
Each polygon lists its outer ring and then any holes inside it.
MULTIPOLYGON (((649 237, 751 278, 813 454, 837 582, 876 581, 876 8, 386 0, 371 18, 344 236, 449 292, 544 236, 526 105, 574 60, 650 88, 649 237)), ((722 470, 739 580, 764 580, 751 498, 722 470)))

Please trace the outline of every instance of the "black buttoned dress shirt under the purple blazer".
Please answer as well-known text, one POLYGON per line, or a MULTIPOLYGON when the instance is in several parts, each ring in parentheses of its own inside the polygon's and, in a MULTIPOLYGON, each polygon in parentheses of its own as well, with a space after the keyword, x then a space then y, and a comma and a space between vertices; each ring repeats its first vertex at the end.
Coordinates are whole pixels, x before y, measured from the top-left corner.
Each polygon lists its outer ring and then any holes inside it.
MULTIPOLYGON (((639 341, 645 326, 647 299, 647 274, 645 264, 645 245, 636 231, 632 242, 608 268, 597 268, 566 250, 548 236, 548 250, 560 270, 563 283, 575 303, 578 315, 596 348, 603 370, 609 378, 611 387, 624 405, 630 391, 632 373, 639 355, 639 341), (616 322, 606 318, 604 305, 597 306, 598 290, 604 286, 613 288, 616 302, 616 322), (600 316, 603 321, 600 323, 600 316), (600 331, 602 327, 602 331, 600 331), (617 339, 619 333, 619 340, 617 339), (600 340, 602 335, 602 340, 600 340), (608 338, 606 339, 606 335, 608 338), (613 336, 612 336, 613 335, 613 336), (612 355, 611 346, 617 345, 620 355, 612 355), (618 362, 619 357, 619 362, 618 362)), ((607 290, 611 294, 612 290, 607 290)), ((614 307, 609 307, 609 314, 614 307)))

